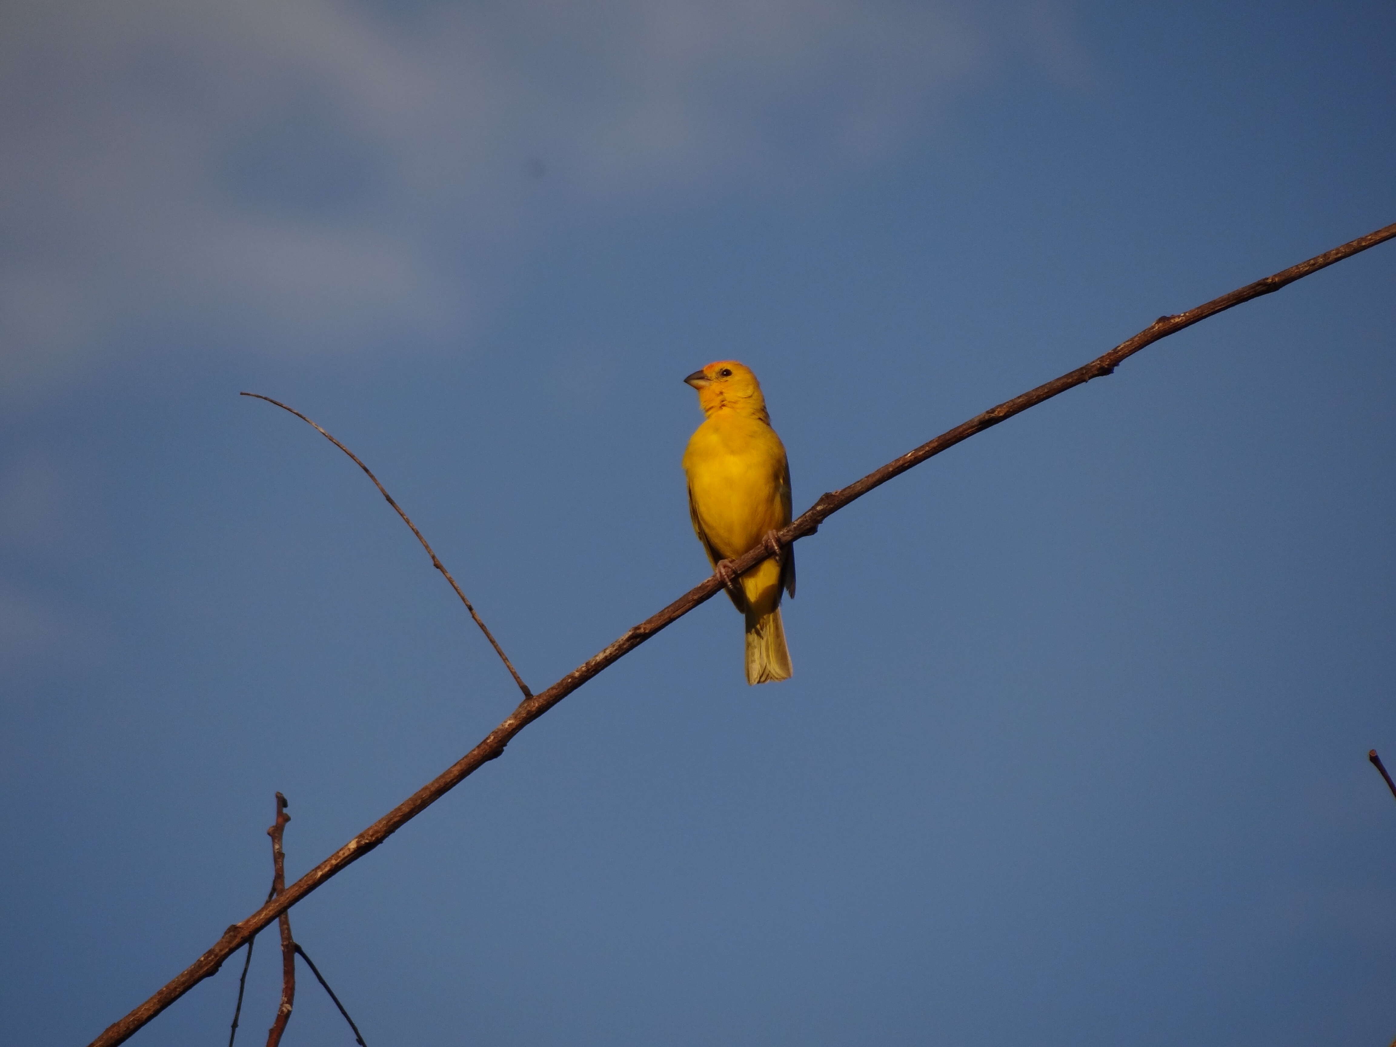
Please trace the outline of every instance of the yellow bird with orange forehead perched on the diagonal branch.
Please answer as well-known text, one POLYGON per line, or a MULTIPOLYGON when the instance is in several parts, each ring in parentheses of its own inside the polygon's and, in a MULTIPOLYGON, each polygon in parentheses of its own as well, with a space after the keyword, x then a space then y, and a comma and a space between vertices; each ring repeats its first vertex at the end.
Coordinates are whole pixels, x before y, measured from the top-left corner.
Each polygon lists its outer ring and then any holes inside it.
POLYGON ((771 429, 761 384, 745 364, 718 360, 684 381, 698 389, 698 405, 708 416, 684 451, 694 532, 747 617, 747 683, 789 680, 780 591, 794 596, 794 550, 775 540, 775 532, 790 522, 785 445, 771 429), (780 551, 734 578, 725 561, 759 544, 780 551))

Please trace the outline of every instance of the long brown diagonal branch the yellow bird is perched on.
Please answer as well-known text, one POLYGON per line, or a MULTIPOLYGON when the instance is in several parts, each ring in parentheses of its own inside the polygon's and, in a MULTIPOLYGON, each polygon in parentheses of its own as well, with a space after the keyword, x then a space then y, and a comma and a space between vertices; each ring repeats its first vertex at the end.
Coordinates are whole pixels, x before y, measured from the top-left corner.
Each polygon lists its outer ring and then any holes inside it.
MULTIPOLYGON (((868 473, 857 483, 852 483, 838 491, 821 496, 819 500, 799 519, 780 530, 776 535, 776 540, 780 546, 787 546, 797 539, 812 535, 818 530, 819 524, 822 524, 833 512, 838 512, 854 498, 863 497, 874 487, 886 483, 893 476, 906 472, 913 465, 924 462, 927 458, 938 455, 941 451, 967 440, 976 433, 981 433, 991 426, 997 426, 1004 419, 1027 410, 1027 408, 1041 403, 1060 392, 1082 385, 1092 378, 1110 374, 1121 360, 1139 352, 1146 345, 1157 342, 1160 338, 1175 334, 1185 327, 1196 324, 1199 320, 1205 320, 1206 317, 1231 309, 1233 306, 1238 306, 1242 302, 1249 302, 1251 299, 1279 290, 1287 283, 1293 283, 1302 276, 1318 272, 1333 262, 1351 257, 1358 251, 1365 251, 1368 247, 1379 244, 1383 240, 1390 240, 1392 237, 1396 237, 1396 223, 1389 225, 1385 229, 1378 229, 1376 232, 1368 233, 1357 240, 1351 240, 1342 247, 1325 251, 1323 254, 1309 258, 1305 262, 1283 269, 1273 276, 1266 276, 1255 283, 1233 290, 1230 295, 1223 295, 1222 297, 1213 299, 1212 302, 1188 310, 1187 313, 1180 313, 1173 317, 1160 317, 1146 329, 1141 331, 1129 341, 1121 342, 1108 353, 1092 360, 1085 367, 1078 367, 1055 381, 1039 385, 1036 389, 1030 389, 1022 396, 1016 396, 1011 401, 1000 403, 995 408, 990 408, 981 415, 976 415, 969 422, 965 422, 963 424, 942 433, 934 440, 921 444, 913 451, 909 451, 900 458, 888 462, 881 469, 868 473)), ((761 544, 732 560, 729 567, 734 574, 744 574, 771 556, 772 551, 761 544)), ((718 581, 716 575, 709 575, 704 582, 690 589, 658 614, 653 614, 638 625, 627 630, 620 639, 592 655, 546 691, 519 702, 518 708, 515 708, 498 727, 491 730, 480 741, 480 744, 461 757, 461 759, 447 768, 441 775, 422 786, 422 789, 383 815, 367 829, 339 847, 339 850, 328 859, 306 872, 306 875, 286 888, 283 895, 272 899, 242 923, 236 923, 223 931, 223 937, 219 938, 202 956, 194 960, 177 977, 169 981, 144 1004, 131 1011, 131 1013, 126 1018, 109 1026, 106 1032, 91 1043, 89 1047, 114 1047, 114 1044, 123 1043, 137 1029, 184 995, 190 988, 214 974, 219 965, 222 965, 222 962, 228 959, 235 949, 247 941, 248 935, 255 934, 258 930, 275 920, 281 913, 290 909, 293 905, 306 898, 306 895, 321 886, 331 877, 338 875, 350 864, 377 847, 388 839, 388 836, 422 814, 422 811, 451 792, 451 789, 469 778, 480 766, 503 755, 504 747, 515 734, 563 701, 584 683, 614 663, 617 659, 638 648, 666 625, 670 625, 681 618, 698 604, 712 599, 720 589, 722 582, 718 581)))

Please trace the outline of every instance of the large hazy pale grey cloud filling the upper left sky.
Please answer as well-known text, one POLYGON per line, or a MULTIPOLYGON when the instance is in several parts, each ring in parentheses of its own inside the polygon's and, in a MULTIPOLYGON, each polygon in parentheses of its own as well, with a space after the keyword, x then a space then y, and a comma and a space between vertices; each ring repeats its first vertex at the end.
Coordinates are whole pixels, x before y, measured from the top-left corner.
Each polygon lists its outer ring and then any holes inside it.
MULTIPOLYGON (((18 0, 0 27, 0 369, 123 334, 272 352, 437 338, 553 207, 881 162, 1051 7, 845 0, 18 0)), ((1064 68, 1067 73, 1064 73, 1064 68)))

